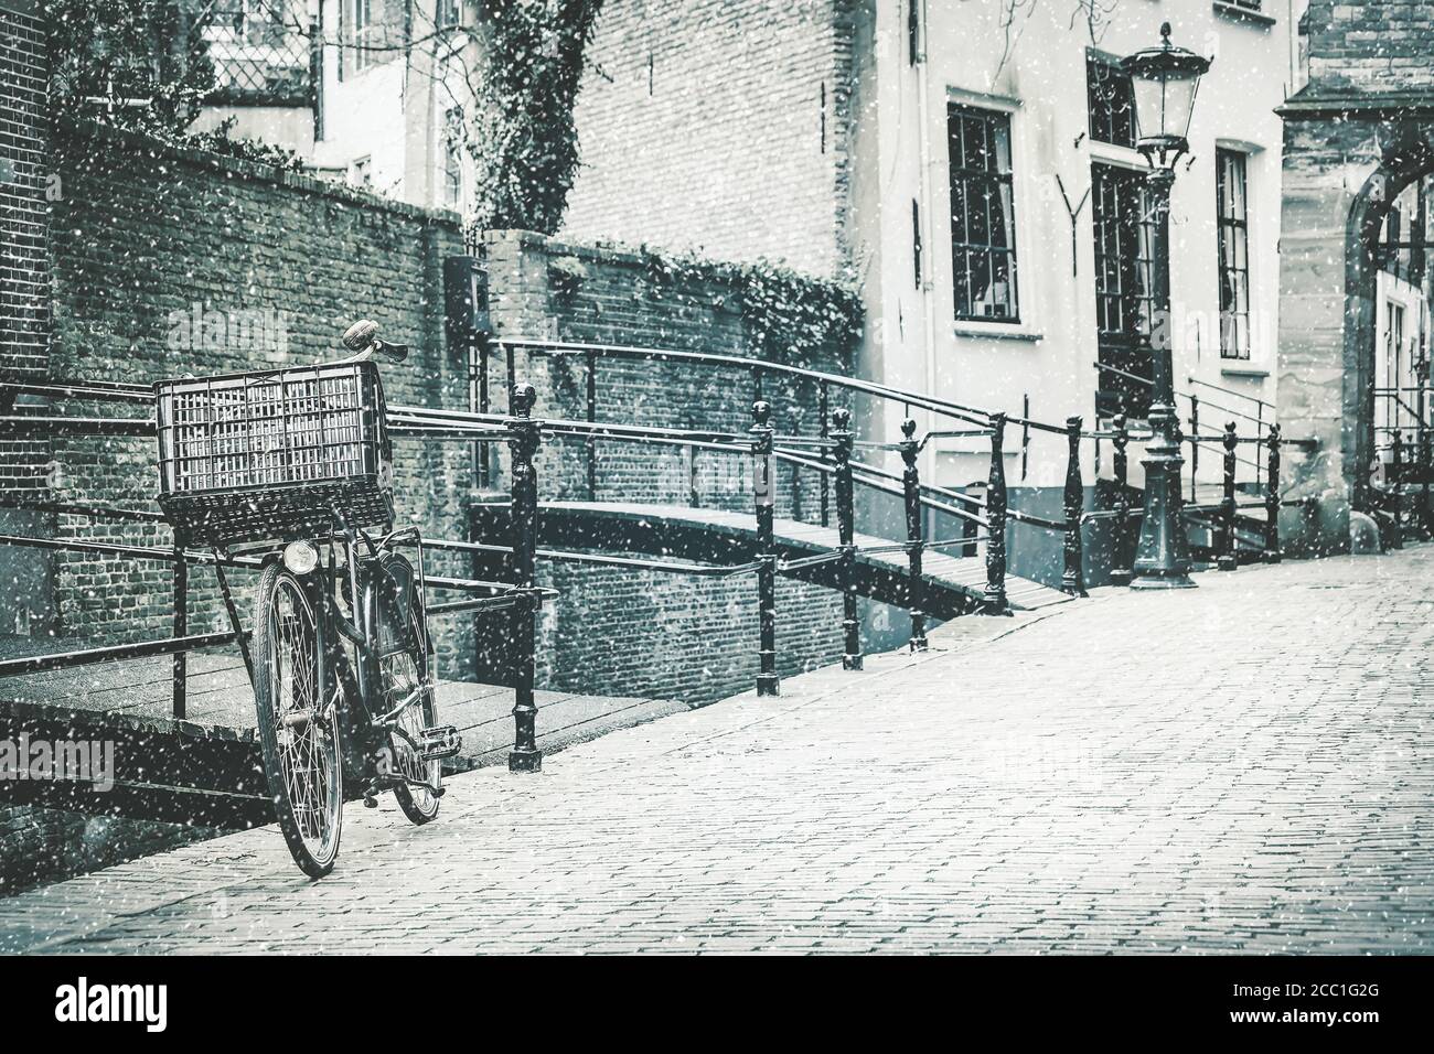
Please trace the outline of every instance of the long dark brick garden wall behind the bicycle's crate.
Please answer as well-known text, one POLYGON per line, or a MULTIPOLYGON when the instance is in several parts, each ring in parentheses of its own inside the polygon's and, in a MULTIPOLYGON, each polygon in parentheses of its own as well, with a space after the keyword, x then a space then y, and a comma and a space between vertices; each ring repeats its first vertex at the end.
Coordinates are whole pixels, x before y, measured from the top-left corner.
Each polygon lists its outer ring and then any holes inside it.
MULTIPOLYGON (((347 354, 343 330, 370 317, 416 348, 384 370, 390 402, 466 407, 467 367, 450 361, 442 320, 442 258, 462 251, 456 217, 96 125, 57 129, 54 149, 66 188, 53 224, 54 377, 151 383, 337 359, 347 354)), ((153 499, 152 440, 56 440, 54 460, 57 499, 153 499)), ((460 536, 453 493, 466 463, 453 445, 399 440, 400 522, 460 536)), ((169 538, 165 528, 70 516, 56 526, 66 538, 169 538)), ((463 569, 453 558, 446 566, 463 569)), ((96 641, 165 634, 169 581, 165 565, 63 555, 62 631, 96 641)), ((219 625, 212 572, 198 571, 191 582, 194 631, 219 625)), ((470 655, 466 635, 452 647, 457 631, 439 637, 445 668, 450 657, 470 655)))

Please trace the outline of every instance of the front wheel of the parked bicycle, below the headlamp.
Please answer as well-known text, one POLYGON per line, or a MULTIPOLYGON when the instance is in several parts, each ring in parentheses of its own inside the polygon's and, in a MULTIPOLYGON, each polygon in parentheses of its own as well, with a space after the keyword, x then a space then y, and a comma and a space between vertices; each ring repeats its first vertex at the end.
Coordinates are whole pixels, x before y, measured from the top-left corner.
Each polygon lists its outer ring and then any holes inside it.
POLYGON ((254 704, 264 776, 294 863, 323 878, 338 856, 343 773, 338 716, 318 677, 318 628, 300 581, 280 564, 260 575, 254 704))

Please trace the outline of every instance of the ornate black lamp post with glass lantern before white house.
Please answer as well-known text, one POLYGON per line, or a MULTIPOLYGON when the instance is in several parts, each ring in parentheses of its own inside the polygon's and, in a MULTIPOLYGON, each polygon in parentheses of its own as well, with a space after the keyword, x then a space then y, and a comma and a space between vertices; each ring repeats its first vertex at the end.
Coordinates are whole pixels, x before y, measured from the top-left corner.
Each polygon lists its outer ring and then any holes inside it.
POLYGON ((1150 359, 1154 386, 1150 399, 1152 439, 1146 445, 1146 513, 1131 566, 1133 589, 1193 588, 1190 545, 1180 515, 1180 423, 1174 410, 1174 367, 1170 331, 1170 188, 1174 165, 1189 148, 1190 112, 1209 59, 1170 43, 1170 23, 1160 27, 1162 43, 1129 56, 1121 67, 1136 96, 1136 143, 1150 165, 1153 218, 1150 359))

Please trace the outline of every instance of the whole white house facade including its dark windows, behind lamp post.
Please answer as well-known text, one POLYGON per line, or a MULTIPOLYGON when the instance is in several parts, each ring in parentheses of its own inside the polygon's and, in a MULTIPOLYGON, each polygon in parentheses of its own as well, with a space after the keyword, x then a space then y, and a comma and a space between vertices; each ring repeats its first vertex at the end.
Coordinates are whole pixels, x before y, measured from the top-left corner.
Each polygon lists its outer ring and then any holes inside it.
MULTIPOLYGON (((1182 423, 1268 423, 1279 290, 1281 120, 1299 7, 911 0, 876 4, 858 49, 853 262, 863 371, 888 384, 1087 427, 1149 403, 1152 326, 1173 344, 1182 423), (1096 16, 1091 17, 1091 7, 1096 16), (1073 17, 1076 16, 1076 17, 1073 17), (1121 56, 1159 42, 1210 57, 1172 198, 1172 314, 1152 317, 1147 166, 1121 56), (1262 400, 1265 406, 1260 404, 1262 400), (1223 407, 1223 409, 1216 409, 1223 407), (1243 417, 1233 416, 1235 413, 1243 417)), ((941 427, 935 420, 932 427, 941 427)), ((895 423, 880 424, 886 432, 895 423)), ((1058 437, 1008 443, 1008 478, 1058 488, 1058 437)), ((1097 447, 1086 445, 1086 479, 1097 447)), ((1139 482, 1139 446, 1131 447, 1139 482)), ((1219 452, 1200 478, 1220 479, 1219 452)), ((982 479, 979 440, 929 453, 938 482, 982 479)), ((1189 473, 1189 467, 1187 467, 1189 473)))

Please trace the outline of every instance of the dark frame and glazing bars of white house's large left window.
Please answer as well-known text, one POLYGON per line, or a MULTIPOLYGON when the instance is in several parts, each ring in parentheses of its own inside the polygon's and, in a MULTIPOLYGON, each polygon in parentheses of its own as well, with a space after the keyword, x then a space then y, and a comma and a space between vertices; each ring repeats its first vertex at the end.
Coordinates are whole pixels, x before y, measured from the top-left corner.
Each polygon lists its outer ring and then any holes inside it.
POLYGON ((1021 290, 1021 257, 1020 257, 1020 218, 1015 205, 1015 189, 1018 179, 1015 176, 1015 128, 1017 122, 1012 120, 1014 112, 1011 108, 1001 105, 991 105, 991 100, 984 99, 967 99, 962 96, 952 96, 946 100, 946 204, 948 204, 948 232, 951 237, 949 244, 949 261, 951 261, 951 297, 952 297, 952 320, 956 327, 971 327, 971 326, 991 326, 992 334, 1024 331, 1025 317, 1028 311, 1022 311, 1022 290, 1021 290), (972 168, 967 165, 967 143, 965 143, 965 123, 961 125, 961 136, 955 135, 955 122, 981 122, 982 128, 982 155, 989 158, 989 163, 984 168, 972 168), (992 128, 997 133, 992 133, 992 128), (998 132, 1004 129, 1004 169, 1002 156, 999 149, 998 132), (955 148, 959 143, 961 155, 955 153, 955 148), (959 163, 958 163, 959 162, 959 163), (1004 198, 1002 198, 1004 189, 1004 198), (959 191, 959 195, 958 195, 959 191), (992 194, 994 191, 994 194, 992 194), (974 241, 974 225, 969 219, 969 211, 967 204, 981 194, 985 206, 985 237, 984 241, 974 241), (962 215, 956 218, 958 201, 962 205, 962 215), (1001 228, 1004 232, 1004 244, 997 244, 994 241, 992 229, 995 224, 991 222, 991 206, 989 204, 997 201, 1001 204, 1001 228), (961 235, 961 237, 958 237, 961 235), (995 262, 997 258, 1005 260, 1005 274, 1007 274, 1007 293, 1004 297, 1005 314, 978 314, 978 301, 974 294, 972 283, 972 254, 981 254, 987 265, 987 290, 995 285, 995 262), (959 262, 958 262, 959 260, 959 262))

